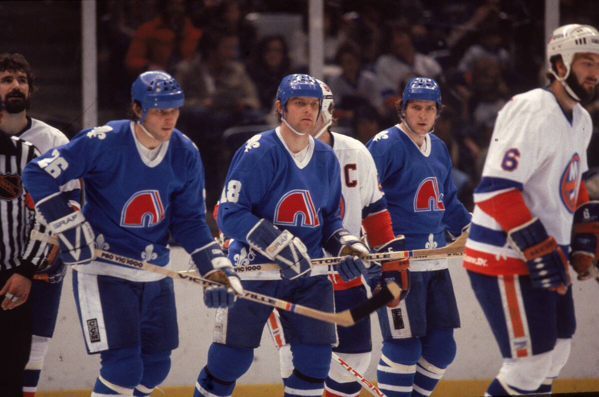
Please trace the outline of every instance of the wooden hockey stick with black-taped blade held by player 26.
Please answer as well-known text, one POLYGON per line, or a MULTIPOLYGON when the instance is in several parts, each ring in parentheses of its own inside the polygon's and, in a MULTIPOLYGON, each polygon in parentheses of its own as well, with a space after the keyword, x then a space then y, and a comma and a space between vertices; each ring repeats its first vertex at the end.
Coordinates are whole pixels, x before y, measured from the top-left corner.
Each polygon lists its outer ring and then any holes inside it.
MULTIPOLYGON (((31 231, 31 239, 58 245, 58 240, 56 237, 48 236, 47 234, 40 233, 37 230, 31 231)), ((98 258, 102 258, 119 265, 152 271, 153 273, 159 273, 164 276, 171 277, 171 279, 183 280, 195 285, 201 285, 204 287, 223 285, 219 282, 204 279, 199 276, 193 276, 193 274, 179 273, 176 270, 138 261, 137 259, 128 258, 126 256, 113 254, 102 249, 96 249, 95 254, 98 258)), ((341 326, 351 326, 364 317, 370 315, 370 313, 373 313, 375 310, 379 309, 379 307, 389 303, 389 301, 396 299, 400 296, 400 294, 401 288, 396 283, 388 283, 378 294, 374 295, 369 300, 359 304, 356 307, 353 307, 352 309, 343 310, 343 312, 340 313, 323 312, 322 310, 312 309, 311 307, 301 306, 299 304, 269 297, 268 295, 257 294, 256 292, 251 291, 244 291, 243 295, 238 295, 238 297, 252 302, 265 304, 267 306, 277 307, 278 309, 287 310, 288 312, 302 314, 302 316, 311 317, 313 319, 322 320, 341 326)))

